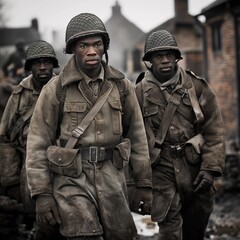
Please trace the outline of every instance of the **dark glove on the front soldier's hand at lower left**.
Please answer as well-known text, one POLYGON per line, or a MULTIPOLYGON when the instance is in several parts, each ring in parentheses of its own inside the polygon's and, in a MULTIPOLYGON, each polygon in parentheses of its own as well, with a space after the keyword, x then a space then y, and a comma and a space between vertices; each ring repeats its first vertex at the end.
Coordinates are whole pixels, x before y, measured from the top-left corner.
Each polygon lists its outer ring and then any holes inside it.
POLYGON ((40 194, 36 199, 37 221, 44 224, 60 224, 57 203, 51 194, 40 194))

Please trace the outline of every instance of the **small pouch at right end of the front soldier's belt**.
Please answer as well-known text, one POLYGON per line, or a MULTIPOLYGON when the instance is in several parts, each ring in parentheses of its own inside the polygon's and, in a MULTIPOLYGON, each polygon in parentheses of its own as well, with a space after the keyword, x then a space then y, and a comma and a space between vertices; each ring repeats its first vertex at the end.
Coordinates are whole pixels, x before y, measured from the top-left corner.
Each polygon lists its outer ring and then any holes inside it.
POLYGON ((131 154, 131 141, 128 138, 123 139, 113 150, 113 165, 117 169, 124 168, 129 163, 131 154))

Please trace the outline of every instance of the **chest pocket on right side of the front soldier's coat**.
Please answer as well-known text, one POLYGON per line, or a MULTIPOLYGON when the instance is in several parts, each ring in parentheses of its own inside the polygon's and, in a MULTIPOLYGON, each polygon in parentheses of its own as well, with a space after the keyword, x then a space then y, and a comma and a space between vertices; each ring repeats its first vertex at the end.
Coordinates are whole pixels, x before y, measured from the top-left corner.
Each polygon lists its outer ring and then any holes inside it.
POLYGON ((112 127, 114 134, 122 134, 122 105, 120 100, 109 101, 109 105, 112 107, 112 127))

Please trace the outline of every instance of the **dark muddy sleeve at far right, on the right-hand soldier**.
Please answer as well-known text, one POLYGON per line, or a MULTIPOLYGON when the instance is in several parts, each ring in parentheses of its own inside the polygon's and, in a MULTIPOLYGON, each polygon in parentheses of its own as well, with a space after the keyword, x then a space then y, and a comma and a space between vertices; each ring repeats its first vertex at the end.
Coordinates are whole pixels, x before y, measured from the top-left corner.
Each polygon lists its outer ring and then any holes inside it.
POLYGON ((199 103, 204 114, 201 123, 205 144, 202 149, 202 170, 221 176, 225 164, 225 132, 217 97, 212 87, 203 82, 199 103))

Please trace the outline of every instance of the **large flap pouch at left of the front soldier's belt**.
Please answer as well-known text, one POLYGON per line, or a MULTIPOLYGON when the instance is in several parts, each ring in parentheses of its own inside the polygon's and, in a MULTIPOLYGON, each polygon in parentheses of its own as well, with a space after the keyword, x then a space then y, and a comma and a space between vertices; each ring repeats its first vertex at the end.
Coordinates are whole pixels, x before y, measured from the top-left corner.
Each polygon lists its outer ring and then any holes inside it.
POLYGON ((82 172, 81 155, 78 149, 50 146, 47 149, 47 158, 53 173, 77 178, 82 172))

